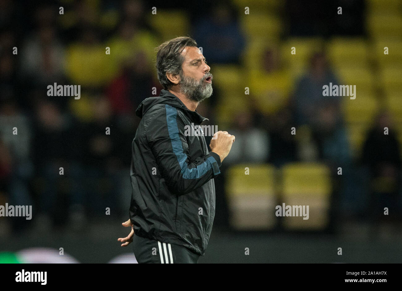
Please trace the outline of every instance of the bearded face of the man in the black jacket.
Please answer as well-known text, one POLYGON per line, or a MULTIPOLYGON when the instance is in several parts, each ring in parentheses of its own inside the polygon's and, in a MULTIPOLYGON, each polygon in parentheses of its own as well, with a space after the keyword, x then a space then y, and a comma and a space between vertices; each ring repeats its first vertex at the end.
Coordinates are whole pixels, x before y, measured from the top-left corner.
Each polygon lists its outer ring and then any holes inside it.
POLYGON ((212 95, 211 69, 205 62, 204 56, 197 47, 185 47, 182 55, 183 73, 180 73, 180 92, 190 100, 201 102, 212 95))

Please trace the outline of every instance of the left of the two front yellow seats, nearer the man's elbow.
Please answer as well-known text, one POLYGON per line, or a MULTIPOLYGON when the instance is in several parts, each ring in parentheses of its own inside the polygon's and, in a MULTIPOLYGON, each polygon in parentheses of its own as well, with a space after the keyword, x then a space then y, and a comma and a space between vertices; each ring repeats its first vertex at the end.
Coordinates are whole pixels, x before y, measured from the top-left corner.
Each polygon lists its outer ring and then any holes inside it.
POLYGON ((275 167, 269 164, 234 165, 226 175, 231 226, 237 230, 273 228, 277 223, 275 167))

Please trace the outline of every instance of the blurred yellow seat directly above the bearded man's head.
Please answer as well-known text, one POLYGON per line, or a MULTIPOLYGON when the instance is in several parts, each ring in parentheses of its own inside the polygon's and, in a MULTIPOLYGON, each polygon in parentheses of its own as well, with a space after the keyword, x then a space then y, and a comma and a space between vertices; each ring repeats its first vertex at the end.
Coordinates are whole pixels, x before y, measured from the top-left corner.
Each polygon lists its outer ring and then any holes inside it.
POLYGON ((158 9, 156 14, 148 14, 147 19, 163 41, 189 34, 190 20, 185 11, 158 9))

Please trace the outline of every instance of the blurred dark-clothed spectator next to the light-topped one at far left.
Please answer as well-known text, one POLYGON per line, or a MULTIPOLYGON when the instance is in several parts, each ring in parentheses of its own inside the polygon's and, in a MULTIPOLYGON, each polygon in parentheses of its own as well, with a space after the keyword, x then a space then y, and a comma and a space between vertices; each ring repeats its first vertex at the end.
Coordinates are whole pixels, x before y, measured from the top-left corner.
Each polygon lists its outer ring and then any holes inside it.
POLYGON ((83 172, 77 163, 76 144, 80 140, 75 130, 68 112, 48 99, 37 101, 32 144, 37 189, 35 231, 46 232, 71 219, 76 226, 83 226, 83 172))

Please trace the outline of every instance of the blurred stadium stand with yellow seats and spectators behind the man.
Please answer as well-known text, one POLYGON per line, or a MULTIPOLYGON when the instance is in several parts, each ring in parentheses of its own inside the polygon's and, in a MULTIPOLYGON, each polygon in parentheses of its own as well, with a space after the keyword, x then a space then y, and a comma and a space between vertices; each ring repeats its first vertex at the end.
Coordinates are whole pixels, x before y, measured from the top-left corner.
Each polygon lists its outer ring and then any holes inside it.
POLYGON ((154 49, 184 35, 213 74, 197 111, 236 136, 200 263, 401 262, 400 1, 2 0, 0 27, 0 205, 33 206, 0 217, 2 262, 132 261, 117 238, 135 109, 162 89, 154 49), (322 96, 330 82, 356 99, 322 96), (47 96, 53 83, 80 99, 47 96), (309 219, 276 217, 282 203, 309 219))

